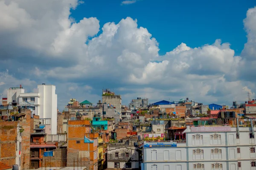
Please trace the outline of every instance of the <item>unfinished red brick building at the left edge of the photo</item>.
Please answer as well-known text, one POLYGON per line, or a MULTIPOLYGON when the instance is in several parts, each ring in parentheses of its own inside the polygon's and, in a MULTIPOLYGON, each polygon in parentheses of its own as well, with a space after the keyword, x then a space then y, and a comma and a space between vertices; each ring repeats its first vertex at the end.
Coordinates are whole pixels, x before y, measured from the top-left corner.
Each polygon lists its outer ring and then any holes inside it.
POLYGON ((29 169, 31 111, 21 109, 15 121, 0 122, 0 161, 19 170, 29 169))

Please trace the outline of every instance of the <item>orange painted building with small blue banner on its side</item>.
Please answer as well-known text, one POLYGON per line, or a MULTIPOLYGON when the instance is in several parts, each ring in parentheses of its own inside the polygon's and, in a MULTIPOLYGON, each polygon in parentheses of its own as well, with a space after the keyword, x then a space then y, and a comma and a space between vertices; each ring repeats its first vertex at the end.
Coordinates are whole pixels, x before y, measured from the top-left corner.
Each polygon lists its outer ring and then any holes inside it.
POLYGON ((98 170, 99 133, 91 131, 88 120, 70 120, 67 124, 67 166, 98 170))

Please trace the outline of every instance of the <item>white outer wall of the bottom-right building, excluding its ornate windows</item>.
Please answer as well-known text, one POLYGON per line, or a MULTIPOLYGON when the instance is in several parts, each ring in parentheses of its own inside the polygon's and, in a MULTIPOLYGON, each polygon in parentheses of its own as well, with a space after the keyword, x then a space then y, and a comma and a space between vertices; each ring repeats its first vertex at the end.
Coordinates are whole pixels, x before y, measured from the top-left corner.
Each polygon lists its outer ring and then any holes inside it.
MULTIPOLYGON (((256 127, 253 129, 256 132, 256 127)), ((251 127, 239 127, 240 135, 239 139, 236 139, 236 127, 232 127, 231 131, 227 132, 207 131, 197 133, 190 132, 188 127, 186 144, 177 143, 177 147, 144 148, 144 169, 193 170, 194 164, 201 163, 204 164, 204 170, 211 170, 212 164, 219 163, 222 164, 221 170, 256 170, 256 167, 251 167, 251 161, 256 161, 256 153, 250 152, 250 147, 256 147, 255 139, 249 137, 249 134, 252 133, 251 130, 251 127), (202 140, 193 142, 192 136, 195 134, 202 135, 202 140), (221 139, 213 141, 210 137, 212 134, 220 135, 221 139), (221 153, 217 156, 211 152, 215 148, 221 150, 221 153), (240 153, 237 153, 237 148, 240 148, 240 153), (201 149, 204 153, 199 156, 195 155, 193 150, 196 149, 201 149), (155 154, 155 151, 156 156, 152 160, 152 154, 155 154), (238 168, 238 162, 241 162, 241 168, 238 168)))

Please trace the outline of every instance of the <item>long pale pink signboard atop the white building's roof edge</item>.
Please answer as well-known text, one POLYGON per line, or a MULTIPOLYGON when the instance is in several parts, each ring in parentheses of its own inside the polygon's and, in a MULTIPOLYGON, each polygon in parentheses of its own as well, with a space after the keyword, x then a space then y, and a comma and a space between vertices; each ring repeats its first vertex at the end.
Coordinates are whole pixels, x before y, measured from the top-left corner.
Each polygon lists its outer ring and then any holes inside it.
POLYGON ((231 131, 230 126, 192 126, 191 132, 227 132, 231 131))

